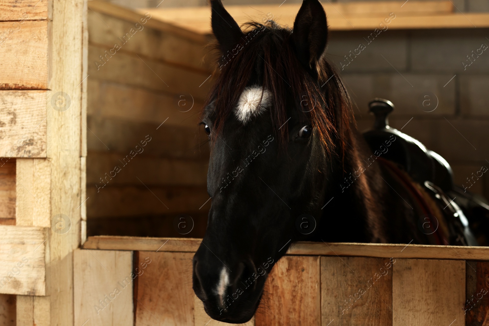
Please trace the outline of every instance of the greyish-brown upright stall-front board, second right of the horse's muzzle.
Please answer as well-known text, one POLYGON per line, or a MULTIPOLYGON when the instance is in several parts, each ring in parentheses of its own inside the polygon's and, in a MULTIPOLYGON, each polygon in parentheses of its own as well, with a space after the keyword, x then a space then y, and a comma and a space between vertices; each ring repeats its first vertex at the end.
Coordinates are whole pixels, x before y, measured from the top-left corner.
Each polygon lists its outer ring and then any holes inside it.
POLYGON ((322 325, 392 325, 392 262, 321 257, 322 325))

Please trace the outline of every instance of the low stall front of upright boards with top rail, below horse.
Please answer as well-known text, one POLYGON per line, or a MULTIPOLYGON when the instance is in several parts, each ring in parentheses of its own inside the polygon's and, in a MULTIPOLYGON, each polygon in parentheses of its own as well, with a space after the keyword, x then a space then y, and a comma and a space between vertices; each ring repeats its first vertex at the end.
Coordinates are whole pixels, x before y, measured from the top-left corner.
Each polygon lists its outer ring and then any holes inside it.
MULTIPOLYGON (((200 239, 89 238, 85 246, 91 250, 75 252, 75 261, 92 266, 75 273, 75 292, 86 298, 86 306, 75 312, 76 323, 91 318, 92 304, 115 286, 121 293, 106 307, 100 306, 103 311, 97 317, 105 324, 92 325, 227 325, 211 320, 193 293, 192 257, 199 244, 200 239), (114 264, 125 276, 112 277, 114 264), (119 282, 131 273, 132 287, 122 286, 126 284, 119 282), (132 296, 128 289, 133 289, 132 296), (111 313, 121 307, 126 307, 123 319, 111 313)), ((294 244, 273 267, 262 303, 246 325, 487 325, 488 251, 488 247, 294 244)))

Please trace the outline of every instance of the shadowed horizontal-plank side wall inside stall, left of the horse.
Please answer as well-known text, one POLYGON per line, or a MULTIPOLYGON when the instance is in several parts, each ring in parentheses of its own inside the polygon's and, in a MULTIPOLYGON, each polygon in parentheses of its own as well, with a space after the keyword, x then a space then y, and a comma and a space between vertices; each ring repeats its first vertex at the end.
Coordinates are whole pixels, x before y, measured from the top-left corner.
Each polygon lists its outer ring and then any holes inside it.
POLYGON ((173 218, 187 214, 195 236, 210 203, 198 126, 213 80, 208 40, 150 14, 89 7, 88 233, 179 236, 173 218))

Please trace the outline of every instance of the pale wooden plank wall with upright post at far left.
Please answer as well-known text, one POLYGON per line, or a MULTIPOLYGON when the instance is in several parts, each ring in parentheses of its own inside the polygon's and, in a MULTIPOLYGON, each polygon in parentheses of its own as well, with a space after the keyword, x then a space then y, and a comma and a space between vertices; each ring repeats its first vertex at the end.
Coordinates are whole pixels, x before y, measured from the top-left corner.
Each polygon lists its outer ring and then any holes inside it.
POLYGON ((0 325, 73 325, 86 9, 83 1, 0 1, 0 325))

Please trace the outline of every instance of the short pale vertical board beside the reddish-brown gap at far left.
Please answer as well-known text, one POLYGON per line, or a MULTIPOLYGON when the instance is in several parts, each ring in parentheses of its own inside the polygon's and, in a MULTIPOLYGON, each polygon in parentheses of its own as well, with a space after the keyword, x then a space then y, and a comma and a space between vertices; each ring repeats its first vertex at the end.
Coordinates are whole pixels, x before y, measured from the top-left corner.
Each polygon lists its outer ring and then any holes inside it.
POLYGON ((51 166, 44 158, 17 160, 17 225, 51 227, 51 166))

